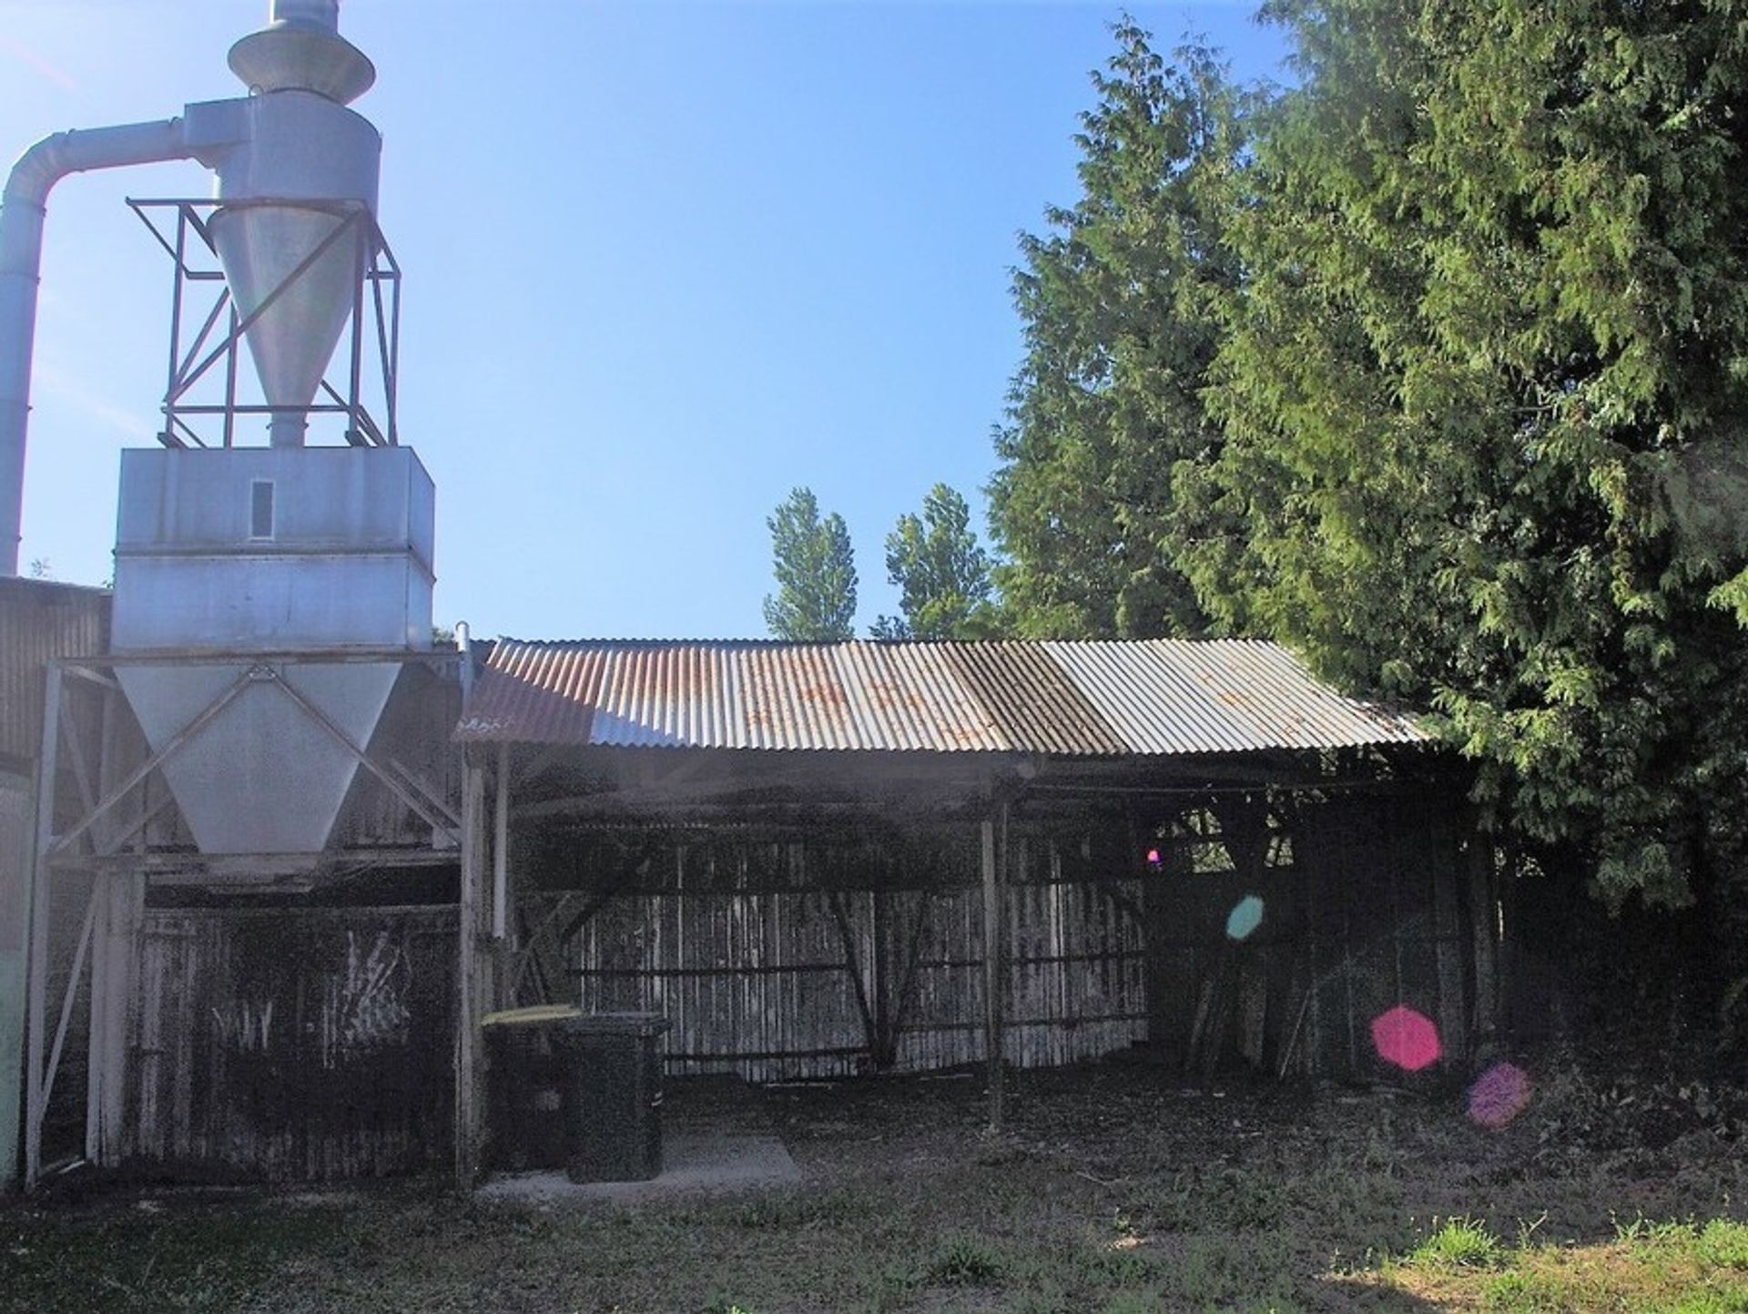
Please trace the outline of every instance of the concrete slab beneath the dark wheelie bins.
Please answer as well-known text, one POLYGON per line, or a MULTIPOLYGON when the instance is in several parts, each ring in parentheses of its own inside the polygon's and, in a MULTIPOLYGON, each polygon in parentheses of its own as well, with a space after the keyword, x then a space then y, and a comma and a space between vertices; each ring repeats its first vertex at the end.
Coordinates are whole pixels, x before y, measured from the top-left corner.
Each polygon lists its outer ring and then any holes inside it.
POLYGON ((481 1200, 565 1202, 636 1200, 781 1186, 801 1181, 801 1169, 774 1136, 669 1132, 662 1139, 662 1172, 652 1181, 579 1183, 563 1172, 505 1172, 475 1192, 481 1200))

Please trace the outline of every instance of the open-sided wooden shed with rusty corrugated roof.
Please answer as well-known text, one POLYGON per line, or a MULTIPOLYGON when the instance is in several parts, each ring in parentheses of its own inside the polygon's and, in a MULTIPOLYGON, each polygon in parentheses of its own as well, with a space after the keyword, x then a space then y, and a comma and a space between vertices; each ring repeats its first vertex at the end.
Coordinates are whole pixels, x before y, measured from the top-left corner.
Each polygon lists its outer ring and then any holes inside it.
POLYGON ((456 737, 463 1129, 488 1003, 662 1012, 675 1073, 982 1062, 996 1118, 1003 1064, 1491 1026, 1458 764, 1271 643, 500 640, 456 737))

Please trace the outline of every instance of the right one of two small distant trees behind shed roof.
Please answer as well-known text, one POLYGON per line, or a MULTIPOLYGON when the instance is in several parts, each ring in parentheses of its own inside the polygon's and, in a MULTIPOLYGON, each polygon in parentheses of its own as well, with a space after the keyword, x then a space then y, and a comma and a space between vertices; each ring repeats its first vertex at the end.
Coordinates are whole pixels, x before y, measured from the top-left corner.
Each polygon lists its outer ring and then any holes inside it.
POLYGON ((921 515, 900 515, 886 535, 886 578, 902 615, 874 622, 877 640, 970 640, 996 631, 989 557, 970 528, 970 507, 946 484, 923 498, 921 515))

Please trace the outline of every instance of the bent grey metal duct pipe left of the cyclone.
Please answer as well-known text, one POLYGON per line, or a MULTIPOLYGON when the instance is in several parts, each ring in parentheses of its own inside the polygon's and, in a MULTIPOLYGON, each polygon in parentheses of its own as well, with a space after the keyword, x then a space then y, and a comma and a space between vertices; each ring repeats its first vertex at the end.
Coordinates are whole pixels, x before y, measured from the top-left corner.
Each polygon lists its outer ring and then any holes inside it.
POLYGON ((17 575, 30 423, 30 351, 49 190, 68 173, 189 159, 182 119, 56 133, 26 150, 0 204, 0 577, 17 575))

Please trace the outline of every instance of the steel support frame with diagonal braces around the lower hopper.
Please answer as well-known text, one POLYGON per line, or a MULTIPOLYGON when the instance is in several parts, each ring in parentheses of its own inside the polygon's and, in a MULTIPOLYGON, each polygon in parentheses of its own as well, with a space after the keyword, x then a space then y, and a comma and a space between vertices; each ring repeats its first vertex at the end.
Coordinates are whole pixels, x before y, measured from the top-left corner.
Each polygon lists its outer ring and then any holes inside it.
MULTIPOLYGON (((273 667, 281 664, 334 664, 334 662, 451 662, 458 655, 451 657, 442 652, 406 652, 406 650, 385 650, 385 652, 364 652, 357 648, 346 650, 306 650, 306 652, 276 652, 276 654, 150 654, 150 655, 122 655, 107 654, 103 657, 79 657, 79 659, 54 659, 45 667, 45 688, 44 688, 44 708, 42 708, 42 750, 37 758, 37 779, 35 779, 35 821, 31 826, 31 844, 26 854, 26 986, 24 986, 24 1033, 26 1033, 26 1052, 24 1052, 24 1164, 23 1164, 23 1185, 26 1190, 33 1190, 42 1178, 42 1131, 47 1117, 49 1099, 54 1092, 54 1078, 59 1069, 59 1059, 65 1048, 66 1031, 70 1027, 72 1013, 77 1003, 77 992, 82 986, 86 975, 86 965, 89 963, 91 975, 91 1062, 87 1069, 87 1110, 86 1110, 86 1153, 96 1162, 107 1162, 114 1158, 122 1145, 121 1120, 122 1120, 122 1071, 119 1064, 126 1062, 126 999, 131 977, 131 954, 135 940, 140 931, 140 912, 143 903, 143 877, 142 870, 112 870, 112 860, 126 861, 126 854, 121 853, 122 846, 135 840, 145 826, 152 823, 164 811, 166 802, 159 802, 156 807, 140 806, 138 813, 128 818, 121 825, 112 825, 101 833, 101 840, 94 839, 96 828, 122 804, 136 795, 136 790, 150 779, 150 776, 175 753, 187 746, 215 716, 218 716, 231 701, 234 701, 243 688, 246 688, 253 680, 259 680, 260 667, 273 667), (126 779, 119 785, 107 786, 103 781, 103 772, 114 769, 108 760, 112 753, 112 722, 114 706, 119 702, 119 685, 114 678, 114 669, 119 666, 166 666, 166 664, 248 664, 243 674, 229 685, 218 697, 201 709, 187 725, 178 730, 163 750, 149 753, 147 760, 131 771, 126 779), (79 778, 80 793, 80 813, 77 821, 73 821, 63 833, 56 833, 56 792, 59 781, 59 755, 63 739, 63 723, 68 720, 66 713, 66 680, 86 680, 96 683, 105 692, 105 760, 98 764, 100 783, 93 788, 89 779, 87 764, 77 753, 82 750, 75 748, 73 758, 75 774, 79 778), (107 788, 105 788, 107 786, 107 788), (101 797, 94 797, 101 793, 101 797), (84 840, 89 853, 79 853, 77 846, 84 840), (51 895, 52 895, 52 875, 58 870, 86 870, 91 872, 94 881, 91 888, 89 903, 86 907, 84 924, 79 935, 79 945, 75 949, 73 968, 68 975, 66 994, 61 999, 58 1010, 58 1022, 54 1027, 54 1038, 49 1038, 49 949, 51 949, 51 895)), ((274 683, 294 697, 295 702, 306 704, 295 690, 292 690, 278 674, 273 674, 274 683)), ((308 708, 306 708, 308 709, 308 708)), ((318 709, 309 709, 311 715, 325 725, 325 729, 334 734, 357 758, 362 765, 371 769, 378 779, 383 781, 397 797, 402 799, 414 813, 423 820, 432 821, 435 830, 449 830, 456 839, 468 835, 468 816, 467 807, 463 814, 454 816, 446 806, 440 804, 439 792, 428 783, 420 781, 406 767, 395 764, 393 769, 385 769, 383 764, 376 762, 364 748, 353 744, 344 732, 337 730, 325 716, 320 716, 318 709), (397 779, 392 771, 399 771, 406 776, 407 783, 397 779), (442 823, 442 825, 440 825, 442 823), (456 835, 460 832, 460 835, 456 835)), ((474 802, 474 795, 467 795, 463 802, 474 802)), ((475 842, 479 837, 479 807, 474 807, 474 835, 475 842)), ((472 865, 475 881, 479 872, 479 858, 475 856, 472 863, 467 860, 468 849, 463 849, 463 898, 467 889, 467 868, 472 865)), ((142 860, 145 854, 138 854, 142 860)), ((257 854, 257 856, 280 856, 280 854, 257 854)), ((239 860, 236 854, 229 854, 231 860, 239 860)), ((194 861, 199 861, 196 856, 194 861)))

